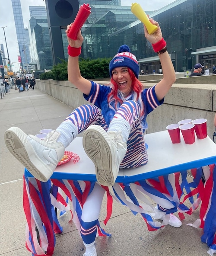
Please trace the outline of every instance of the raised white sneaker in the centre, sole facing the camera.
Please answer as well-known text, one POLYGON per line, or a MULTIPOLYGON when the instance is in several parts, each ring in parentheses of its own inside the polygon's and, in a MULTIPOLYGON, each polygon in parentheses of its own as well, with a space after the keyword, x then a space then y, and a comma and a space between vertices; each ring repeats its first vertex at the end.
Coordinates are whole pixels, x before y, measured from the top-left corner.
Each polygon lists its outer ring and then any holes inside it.
POLYGON ((107 133, 101 126, 91 125, 83 135, 83 147, 95 164, 97 181, 103 186, 113 186, 127 151, 121 132, 107 133))

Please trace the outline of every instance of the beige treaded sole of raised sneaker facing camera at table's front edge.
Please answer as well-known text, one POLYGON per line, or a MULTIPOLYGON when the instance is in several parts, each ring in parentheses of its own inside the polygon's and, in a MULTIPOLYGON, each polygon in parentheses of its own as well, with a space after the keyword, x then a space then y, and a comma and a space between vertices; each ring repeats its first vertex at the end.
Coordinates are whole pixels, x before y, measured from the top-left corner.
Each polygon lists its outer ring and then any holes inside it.
POLYGON ((103 186, 113 186, 115 180, 111 170, 112 156, 105 138, 108 135, 102 127, 91 125, 83 134, 83 147, 95 164, 97 181, 103 186))

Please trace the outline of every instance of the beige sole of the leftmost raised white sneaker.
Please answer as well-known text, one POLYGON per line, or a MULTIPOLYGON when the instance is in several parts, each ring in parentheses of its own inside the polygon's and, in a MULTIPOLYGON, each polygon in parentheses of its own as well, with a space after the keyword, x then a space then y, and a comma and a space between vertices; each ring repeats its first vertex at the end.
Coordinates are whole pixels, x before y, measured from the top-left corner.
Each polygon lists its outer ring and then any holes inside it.
POLYGON ((48 170, 48 175, 44 175, 40 170, 35 166, 47 169, 47 166, 40 160, 39 157, 35 154, 35 150, 27 139, 27 134, 23 132, 18 127, 11 127, 5 132, 5 144, 11 154, 22 163, 25 168, 38 180, 42 182, 48 181, 50 178, 49 173, 52 173, 51 170, 48 170), (27 149, 27 150, 26 150, 27 149), (29 154, 27 153, 29 152, 29 154), (33 162, 33 163, 32 163, 33 162))

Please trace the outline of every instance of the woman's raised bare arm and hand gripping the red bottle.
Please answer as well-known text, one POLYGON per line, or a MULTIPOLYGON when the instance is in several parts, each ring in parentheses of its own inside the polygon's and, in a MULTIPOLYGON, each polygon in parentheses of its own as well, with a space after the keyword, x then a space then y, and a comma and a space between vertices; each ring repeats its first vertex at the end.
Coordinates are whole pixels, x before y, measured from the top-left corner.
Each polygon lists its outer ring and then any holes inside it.
MULTIPOLYGON (((65 31, 66 34, 69 32, 71 26, 73 26, 73 24, 70 24, 67 26, 67 30, 65 31)), ((73 48, 81 47, 83 44, 83 36, 81 34, 81 31, 79 30, 76 40, 73 40, 69 37, 67 37, 67 40, 70 47, 73 47, 73 48)), ((75 52, 78 49, 73 49, 73 48, 70 48, 70 51, 72 55, 76 55, 75 52), (73 50, 75 54, 73 54, 73 50)), ((72 57, 69 54, 68 63, 67 63, 67 73, 68 73, 68 80, 70 81, 70 83, 73 83, 73 85, 75 85, 77 89, 79 89, 81 92, 85 93, 86 95, 89 95, 92 84, 89 80, 85 79, 80 74, 79 56, 72 57)))

